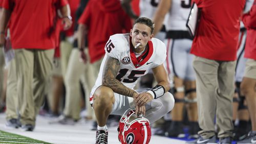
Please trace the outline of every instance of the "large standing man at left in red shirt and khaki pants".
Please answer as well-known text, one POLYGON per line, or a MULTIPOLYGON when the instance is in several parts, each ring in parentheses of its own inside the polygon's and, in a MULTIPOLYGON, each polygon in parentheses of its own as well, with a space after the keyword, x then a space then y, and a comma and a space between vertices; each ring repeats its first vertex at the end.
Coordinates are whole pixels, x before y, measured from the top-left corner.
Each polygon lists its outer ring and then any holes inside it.
POLYGON ((70 9, 66 0, 4 0, 0 23, 2 33, 9 25, 17 68, 18 111, 22 129, 33 131, 35 117, 44 102, 46 85, 56 47, 56 9, 61 9, 65 29, 70 28, 70 9))

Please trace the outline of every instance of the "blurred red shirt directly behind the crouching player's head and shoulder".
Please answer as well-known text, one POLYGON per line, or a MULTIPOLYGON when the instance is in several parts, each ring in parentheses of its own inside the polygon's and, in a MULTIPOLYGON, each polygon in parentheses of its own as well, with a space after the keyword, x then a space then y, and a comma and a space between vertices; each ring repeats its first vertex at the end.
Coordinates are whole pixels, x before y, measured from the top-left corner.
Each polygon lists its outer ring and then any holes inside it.
POLYGON ((88 28, 91 63, 104 56, 104 47, 111 35, 132 29, 131 18, 123 11, 120 0, 90 0, 78 23, 88 28))

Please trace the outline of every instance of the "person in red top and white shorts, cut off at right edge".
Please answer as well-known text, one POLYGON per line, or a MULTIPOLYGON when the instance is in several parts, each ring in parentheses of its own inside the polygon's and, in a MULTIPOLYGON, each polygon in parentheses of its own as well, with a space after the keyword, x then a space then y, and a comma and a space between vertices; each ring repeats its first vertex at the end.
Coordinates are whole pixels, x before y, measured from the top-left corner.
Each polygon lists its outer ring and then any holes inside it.
POLYGON ((242 17, 245 28, 247 29, 245 58, 245 74, 241 83, 241 91, 244 93, 247 107, 251 118, 251 131, 248 136, 238 142, 256 143, 256 0, 254 0, 251 10, 242 17))

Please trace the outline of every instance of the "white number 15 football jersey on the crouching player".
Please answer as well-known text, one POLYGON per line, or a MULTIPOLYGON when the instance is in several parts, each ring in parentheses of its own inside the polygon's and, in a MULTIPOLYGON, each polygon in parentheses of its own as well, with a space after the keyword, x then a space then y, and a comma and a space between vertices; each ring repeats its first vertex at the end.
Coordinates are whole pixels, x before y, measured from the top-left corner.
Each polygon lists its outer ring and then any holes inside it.
POLYGON ((137 61, 135 53, 131 51, 131 45, 130 34, 110 36, 105 45, 105 56, 100 65, 96 83, 92 88, 91 97, 97 87, 102 85, 103 68, 107 56, 118 59, 120 69, 116 79, 129 88, 134 88, 139 77, 146 75, 150 69, 161 65, 166 59, 166 46, 157 38, 152 38, 151 41, 148 41, 148 54, 140 62, 137 61))

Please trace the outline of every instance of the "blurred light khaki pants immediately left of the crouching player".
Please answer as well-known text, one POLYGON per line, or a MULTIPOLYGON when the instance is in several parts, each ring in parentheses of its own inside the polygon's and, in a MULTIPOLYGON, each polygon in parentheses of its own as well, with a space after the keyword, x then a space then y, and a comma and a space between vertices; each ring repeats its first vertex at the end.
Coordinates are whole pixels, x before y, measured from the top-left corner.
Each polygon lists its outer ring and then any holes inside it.
MULTIPOLYGON (((87 58, 89 58, 88 50, 85 50, 87 58)), ((87 63, 84 64, 79 61, 80 55, 78 49, 73 49, 70 55, 70 60, 67 68, 67 73, 65 76, 65 86, 66 86, 66 103, 64 109, 64 115, 70 116, 73 119, 80 118, 80 85, 81 80, 83 87, 86 91, 86 106, 88 110, 88 115, 93 116, 94 112, 90 105, 90 92, 95 84, 97 75, 99 73, 100 63, 99 60, 93 64, 90 63, 88 59, 87 63)), ((94 117, 94 116, 93 116, 94 117)))

